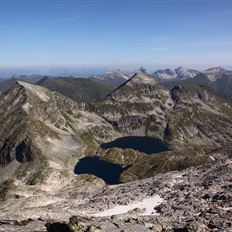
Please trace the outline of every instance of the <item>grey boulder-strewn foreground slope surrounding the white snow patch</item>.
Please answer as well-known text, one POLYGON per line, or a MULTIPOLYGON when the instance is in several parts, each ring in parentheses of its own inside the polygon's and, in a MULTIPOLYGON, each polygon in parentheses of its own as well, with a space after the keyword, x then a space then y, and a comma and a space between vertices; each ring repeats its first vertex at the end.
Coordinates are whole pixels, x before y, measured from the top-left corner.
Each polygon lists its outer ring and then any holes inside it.
POLYGON ((35 186, 30 191, 11 188, 10 194, 2 194, 0 231, 231 232, 230 151, 215 150, 212 161, 202 166, 125 184, 105 185, 97 177, 80 175, 49 193, 35 186), (141 216, 144 210, 134 208, 120 215, 96 216, 154 196, 162 199, 153 206, 156 214, 141 216))

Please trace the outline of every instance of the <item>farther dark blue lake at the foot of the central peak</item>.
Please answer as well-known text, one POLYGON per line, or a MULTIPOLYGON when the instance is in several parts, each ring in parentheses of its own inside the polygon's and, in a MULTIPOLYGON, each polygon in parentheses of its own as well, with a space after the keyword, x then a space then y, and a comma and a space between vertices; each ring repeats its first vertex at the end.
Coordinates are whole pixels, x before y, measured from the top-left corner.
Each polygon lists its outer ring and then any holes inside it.
POLYGON ((148 136, 127 136, 118 138, 109 143, 101 144, 101 148, 108 149, 113 147, 119 147, 122 149, 132 148, 146 154, 159 153, 163 151, 169 151, 166 144, 160 139, 152 138, 148 136))

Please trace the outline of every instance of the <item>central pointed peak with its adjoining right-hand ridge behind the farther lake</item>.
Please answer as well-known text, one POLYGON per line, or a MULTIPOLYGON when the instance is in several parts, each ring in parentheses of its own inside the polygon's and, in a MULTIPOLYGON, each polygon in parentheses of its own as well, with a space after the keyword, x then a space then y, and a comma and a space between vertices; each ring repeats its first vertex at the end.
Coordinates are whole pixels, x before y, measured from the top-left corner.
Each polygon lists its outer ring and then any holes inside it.
POLYGON ((195 85, 169 91, 147 74, 135 74, 94 111, 124 135, 157 137, 172 148, 231 142, 230 101, 195 85))

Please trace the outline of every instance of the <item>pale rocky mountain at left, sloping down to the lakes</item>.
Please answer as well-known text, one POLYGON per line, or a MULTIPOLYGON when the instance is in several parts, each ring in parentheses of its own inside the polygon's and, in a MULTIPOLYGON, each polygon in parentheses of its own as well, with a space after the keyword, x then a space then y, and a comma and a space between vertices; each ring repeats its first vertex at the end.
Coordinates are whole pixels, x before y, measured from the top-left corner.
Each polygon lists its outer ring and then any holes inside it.
POLYGON ((86 148, 117 137, 82 105, 24 82, 1 93, 0 119, 1 180, 34 183, 54 170, 73 173, 86 148))

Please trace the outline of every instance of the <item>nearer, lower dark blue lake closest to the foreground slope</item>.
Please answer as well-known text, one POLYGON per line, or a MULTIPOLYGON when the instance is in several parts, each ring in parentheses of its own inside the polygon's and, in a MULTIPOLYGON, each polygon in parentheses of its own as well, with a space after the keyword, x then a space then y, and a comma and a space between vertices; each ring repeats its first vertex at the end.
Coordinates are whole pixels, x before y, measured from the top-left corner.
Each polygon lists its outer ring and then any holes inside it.
POLYGON ((92 174, 103 179, 107 184, 119 184, 119 176, 123 168, 120 165, 112 164, 98 157, 85 157, 76 164, 75 174, 92 174))

